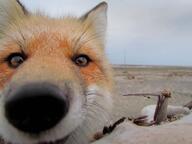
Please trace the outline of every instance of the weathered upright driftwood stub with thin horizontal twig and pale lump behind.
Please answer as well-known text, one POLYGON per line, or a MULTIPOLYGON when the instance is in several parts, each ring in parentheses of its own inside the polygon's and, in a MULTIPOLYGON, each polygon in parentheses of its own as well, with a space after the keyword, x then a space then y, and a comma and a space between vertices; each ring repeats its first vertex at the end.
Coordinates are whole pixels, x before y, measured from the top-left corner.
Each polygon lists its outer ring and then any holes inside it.
POLYGON ((178 115, 189 114, 190 109, 192 108, 192 101, 185 104, 184 106, 170 106, 168 105, 168 99, 171 98, 171 92, 163 90, 159 93, 135 93, 135 94, 126 94, 123 96, 156 96, 158 97, 157 105, 149 105, 142 110, 140 117, 133 119, 132 121, 140 126, 151 126, 158 125, 164 121, 173 121, 173 118, 176 119, 178 115), (154 113, 151 113, 152 110, 155 110, 154 113), (153 115, 153 118, 149 118, 153 115), (149 120, 151 119, 151 121, 149 120))

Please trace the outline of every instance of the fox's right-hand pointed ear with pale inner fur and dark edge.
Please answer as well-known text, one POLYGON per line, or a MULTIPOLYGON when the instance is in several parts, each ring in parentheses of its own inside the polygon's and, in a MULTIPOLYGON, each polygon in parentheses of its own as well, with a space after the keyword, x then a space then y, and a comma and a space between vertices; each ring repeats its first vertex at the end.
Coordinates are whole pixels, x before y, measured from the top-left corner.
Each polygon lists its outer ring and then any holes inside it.
POLYGON ((90 23, 96 34, 99 34, 102 38, 105 37, 107 27, 107 7, 106 2, 101 2, 80 18, 85 23, 90 23))

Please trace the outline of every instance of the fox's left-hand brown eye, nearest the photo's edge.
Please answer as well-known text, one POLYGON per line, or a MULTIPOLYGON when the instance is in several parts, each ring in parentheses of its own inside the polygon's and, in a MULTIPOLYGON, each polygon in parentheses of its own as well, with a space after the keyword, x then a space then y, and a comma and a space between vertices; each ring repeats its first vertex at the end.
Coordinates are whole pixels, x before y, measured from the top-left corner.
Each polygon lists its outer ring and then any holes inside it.
POLYGON ((7 57, 7 62, 10 67, 17 68, 25 60, 25 55, 22 53, 12 53, 7 57))

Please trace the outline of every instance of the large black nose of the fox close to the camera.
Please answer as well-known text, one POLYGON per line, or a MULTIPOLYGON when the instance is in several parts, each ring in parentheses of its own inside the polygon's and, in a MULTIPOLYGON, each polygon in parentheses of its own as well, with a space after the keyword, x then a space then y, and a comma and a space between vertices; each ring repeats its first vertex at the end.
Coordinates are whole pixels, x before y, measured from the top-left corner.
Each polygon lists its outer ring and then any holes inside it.
POLYGON ((56 126, 67 114, 69 101, 58 87, 34 83, 8 95, 5 116, 18 130, 38 134, 56 126))

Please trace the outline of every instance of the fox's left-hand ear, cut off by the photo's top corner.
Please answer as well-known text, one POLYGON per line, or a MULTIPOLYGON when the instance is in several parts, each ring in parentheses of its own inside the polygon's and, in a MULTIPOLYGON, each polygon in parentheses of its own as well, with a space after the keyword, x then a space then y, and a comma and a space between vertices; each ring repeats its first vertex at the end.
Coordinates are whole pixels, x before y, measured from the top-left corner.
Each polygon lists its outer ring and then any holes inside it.
POLYGON ((28 11, 19 0, 0 0, 0 37, 5 29, 28 15, 28 11))

